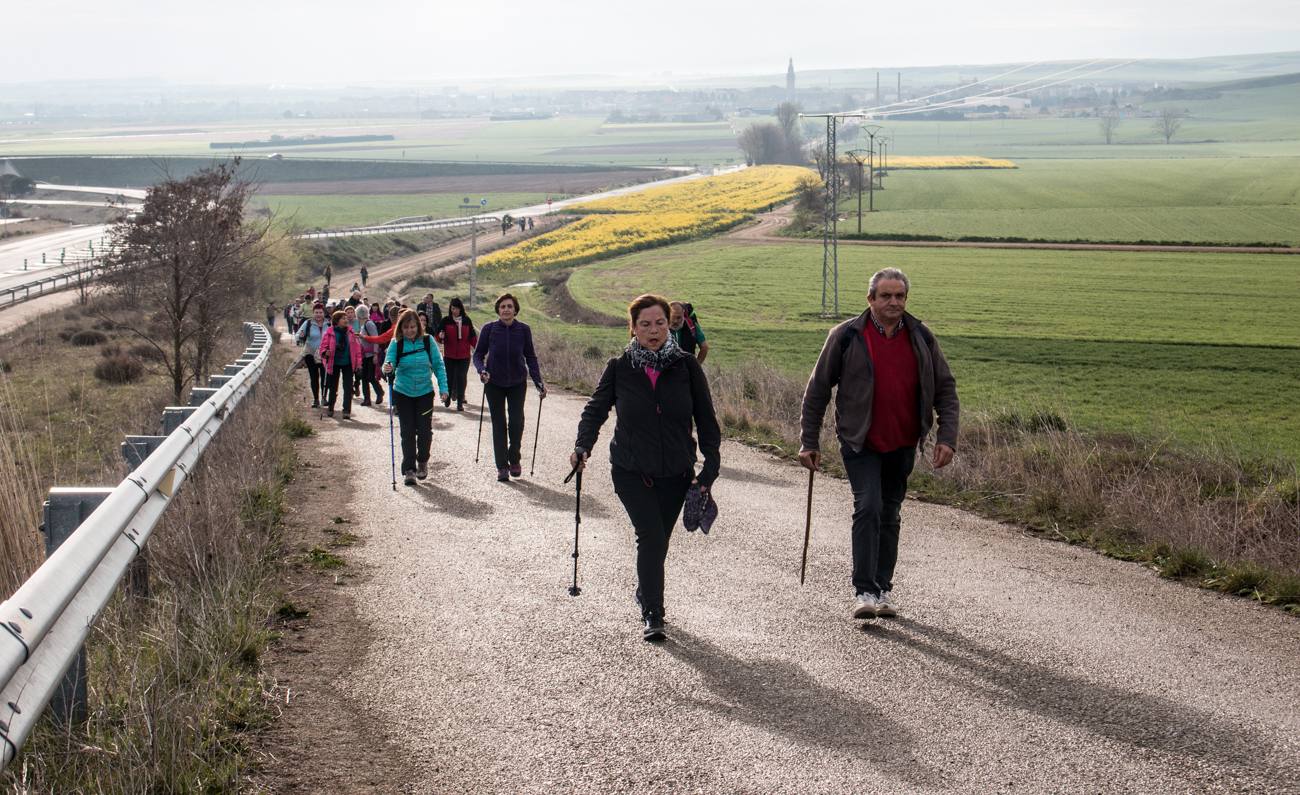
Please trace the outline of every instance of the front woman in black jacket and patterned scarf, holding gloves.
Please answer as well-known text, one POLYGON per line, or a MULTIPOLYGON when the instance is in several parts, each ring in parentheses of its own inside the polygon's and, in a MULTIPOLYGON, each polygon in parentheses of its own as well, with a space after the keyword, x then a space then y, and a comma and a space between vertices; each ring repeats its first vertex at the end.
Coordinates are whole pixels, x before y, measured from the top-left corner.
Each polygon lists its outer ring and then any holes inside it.
POLYGON ((637 601, 642 637, 662 640, 663 562, 692 483, 707 494, 718 479, 722 431, 708 381, 694 356, 673 342, 668 301, 642 295, 628 305, 632 342, 611 359, 582 409, 569 464, 584 466, 601 425, 618 409, 610 442, 614 491, 637 533, 637 601), (694 423, 705 466, 696 474, 694 423))

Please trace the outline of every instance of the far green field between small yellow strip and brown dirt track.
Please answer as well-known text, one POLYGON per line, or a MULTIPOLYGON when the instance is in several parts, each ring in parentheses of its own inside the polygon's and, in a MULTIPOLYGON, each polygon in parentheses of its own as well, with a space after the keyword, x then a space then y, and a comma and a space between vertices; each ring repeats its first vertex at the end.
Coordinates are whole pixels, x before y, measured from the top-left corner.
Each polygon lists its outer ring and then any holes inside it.
MULTIPOLYGON (((868 235, 1300 244, 1300 157, 1028 160, 892 171, 868 235)), ((857 194, 841 234, 855 234, 857 194)))

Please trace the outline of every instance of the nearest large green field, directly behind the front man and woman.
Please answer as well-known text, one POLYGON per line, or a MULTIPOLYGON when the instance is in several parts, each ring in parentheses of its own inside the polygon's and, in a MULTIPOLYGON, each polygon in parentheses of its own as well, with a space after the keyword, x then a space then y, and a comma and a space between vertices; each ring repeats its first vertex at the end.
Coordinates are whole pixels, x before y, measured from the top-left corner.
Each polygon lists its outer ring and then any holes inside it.
MULTIPOLYGON (((963 405, 1049 408, 1080 427, 1138 431, 1300 460, 1300 271, 1292 257, 966 249, 840 249, 841 308, 884 265, 914 281, 963 405)), ((706 240, 580 268, 575 299, 620 317, 658 291, 694 301, 722 364, 803 377, 818 317, 816 247, 706 240)), ((534 316, 536 318, 536 316, 534 316)), ((615 349, 619 329, 558 330, 615 349)))

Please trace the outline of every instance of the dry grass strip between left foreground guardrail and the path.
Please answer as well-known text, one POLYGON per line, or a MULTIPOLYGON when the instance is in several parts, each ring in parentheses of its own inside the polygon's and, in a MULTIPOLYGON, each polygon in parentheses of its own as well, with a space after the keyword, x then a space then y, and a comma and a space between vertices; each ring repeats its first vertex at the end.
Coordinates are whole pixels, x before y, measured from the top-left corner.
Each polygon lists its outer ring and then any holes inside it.
POLYGON ((266 378, 222 427, 150 539, 151 595, 118 594, 94 627, 87 724, 44 724, 8 787, 244 789, 248 731, 273 717, 259 659, 274 638, 289 410, 266 378))

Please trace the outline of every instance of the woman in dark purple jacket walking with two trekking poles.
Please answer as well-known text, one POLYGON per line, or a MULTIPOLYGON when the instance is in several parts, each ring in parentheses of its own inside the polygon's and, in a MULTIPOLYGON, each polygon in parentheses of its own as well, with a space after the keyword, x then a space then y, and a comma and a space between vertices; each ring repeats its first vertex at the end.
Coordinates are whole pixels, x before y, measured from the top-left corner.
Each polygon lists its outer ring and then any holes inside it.
POLYGON ((498 320, 480 329, 473 356, 491 413, 491 447, 500 482, 524 474, 519 448, 524 438, 524 398, 529 378, 537 385, 537 396, 546 399, 546 385, 542 383, 542 370, 533 349, 533 330, 519 322, 517 314, 515 296, 507 292, 497 299, 498 320))

